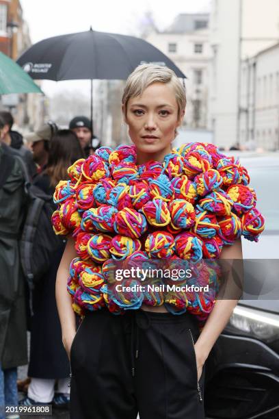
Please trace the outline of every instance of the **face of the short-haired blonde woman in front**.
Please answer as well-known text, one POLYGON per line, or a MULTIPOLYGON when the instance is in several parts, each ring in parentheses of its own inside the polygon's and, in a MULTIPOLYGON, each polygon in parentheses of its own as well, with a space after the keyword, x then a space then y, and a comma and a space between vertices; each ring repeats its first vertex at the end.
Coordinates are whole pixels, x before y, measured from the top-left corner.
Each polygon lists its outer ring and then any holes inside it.
POLYGON ((171 84, 150 84, 142 96, 129 99, 124 118, 137 149, 138 164, 151 159, 162 161, 170 153, 175 130, 181 125, 184 113, 178 116, 178 104, 171 84))

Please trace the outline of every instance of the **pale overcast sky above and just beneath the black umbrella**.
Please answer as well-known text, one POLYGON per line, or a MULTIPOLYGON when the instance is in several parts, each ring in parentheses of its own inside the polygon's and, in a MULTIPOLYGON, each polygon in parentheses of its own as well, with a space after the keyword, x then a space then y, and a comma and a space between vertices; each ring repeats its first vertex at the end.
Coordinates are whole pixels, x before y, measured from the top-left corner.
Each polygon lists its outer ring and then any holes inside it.
MULTIPOLYGON (((144 12, 150 10, 160 30, 179 13, 207 12, 210 0, 21 0, 29 24, 31 41, 90 29, 135 35, 144 12)), ((52 96, 59 90, 81 88, 86 81, 44 81, 43 90, 52 96)))

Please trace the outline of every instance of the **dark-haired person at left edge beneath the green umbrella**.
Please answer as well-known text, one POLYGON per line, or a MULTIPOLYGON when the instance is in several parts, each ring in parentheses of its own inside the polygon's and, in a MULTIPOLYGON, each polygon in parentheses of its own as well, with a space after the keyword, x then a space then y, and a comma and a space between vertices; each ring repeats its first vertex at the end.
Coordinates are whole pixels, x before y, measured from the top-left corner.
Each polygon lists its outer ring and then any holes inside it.
POLYGON ((34 164, 31 151, 23 144, 23 136, 17 131, 12 131, 12 126, 14 125, 12 114, 8 111, 1 111, 0 116, 4 123, 0 140, 16 150, 17 153, 14 154, 18 154, 22 158, 29 177, 32 179, 36 173, 36 164, 34 164))

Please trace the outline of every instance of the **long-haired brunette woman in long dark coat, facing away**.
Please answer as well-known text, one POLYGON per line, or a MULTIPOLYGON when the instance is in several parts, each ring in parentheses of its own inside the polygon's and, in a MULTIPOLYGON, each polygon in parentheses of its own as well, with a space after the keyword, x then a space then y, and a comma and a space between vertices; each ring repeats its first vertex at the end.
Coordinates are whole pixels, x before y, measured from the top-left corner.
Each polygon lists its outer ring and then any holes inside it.
MULTIPOLYGON (((36 134, 38 135, 38 131, 36 134)), ((42 137, 42 141, 46 141, 46 135, 42 137)), ((37 141, 34 142, 36 144, 37 141)), ((77 136, 69 129, 57 131, 48 144, 49 160, 40 175, 34 179, 34 185, 46 194, 53 195, 59 179, 68 179, 68 166, 84 155, 77 136)), ((55 207, 53 209, 55 210, 55 207)), ((62 344, 62 331, 55 302, 55 279, 64 247, 62 242, 59 251, 53 253, 51 268, 34 290, 28 370, 31 383, 27 396, 20 401, 24 406, 52 403, 55 407, 67 407, 69 402, 70 364, 62 344)))

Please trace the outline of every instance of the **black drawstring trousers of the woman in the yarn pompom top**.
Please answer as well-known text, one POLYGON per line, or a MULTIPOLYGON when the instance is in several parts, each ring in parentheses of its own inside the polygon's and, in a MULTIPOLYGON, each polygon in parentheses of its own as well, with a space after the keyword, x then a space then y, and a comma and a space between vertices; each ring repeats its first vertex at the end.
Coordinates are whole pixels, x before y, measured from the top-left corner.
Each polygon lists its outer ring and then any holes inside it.
POLYGON ((70 359, 71 419, 204 419, 191 314, 88 312, 70 359))

